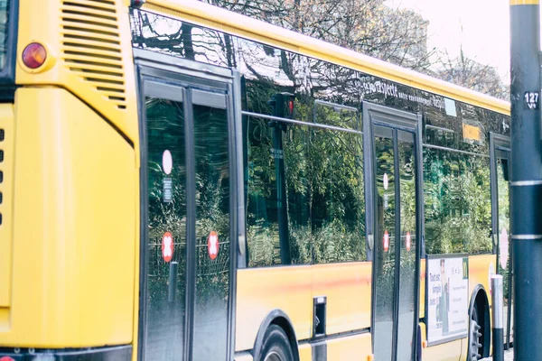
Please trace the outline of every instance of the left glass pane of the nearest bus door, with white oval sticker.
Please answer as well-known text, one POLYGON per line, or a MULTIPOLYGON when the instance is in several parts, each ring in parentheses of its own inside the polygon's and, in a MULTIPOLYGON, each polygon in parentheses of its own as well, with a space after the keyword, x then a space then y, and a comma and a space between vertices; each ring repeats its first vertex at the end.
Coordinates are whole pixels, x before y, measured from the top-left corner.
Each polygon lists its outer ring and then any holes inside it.
POLYGON ((186 164, 183 104, 145 97, 148 142, 148 245, 147 245, 147 359, 177 360, 184 352, 186 289, 186 164), (171 169, 164 158, 172 160, 171 169), (169 189, 169 191, 168 191, 169 189), (169 240, 172 254, 164 259, 162 245, 169 240), (178 283, 170 299, 172 264, 178 264, 178 283), (178 342, 167 343, 175 338, 178 342), (167 347, 165 347, 167 346, 167 347))

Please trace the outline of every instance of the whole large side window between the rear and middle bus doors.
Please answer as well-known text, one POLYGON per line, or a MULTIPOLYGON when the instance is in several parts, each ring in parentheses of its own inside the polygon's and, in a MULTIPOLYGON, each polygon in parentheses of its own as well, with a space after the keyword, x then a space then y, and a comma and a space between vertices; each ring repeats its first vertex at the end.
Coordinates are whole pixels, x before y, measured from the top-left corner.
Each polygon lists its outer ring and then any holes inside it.
POLYGON ((248 266, 360 261, 360 134, 248 117, 248 266))

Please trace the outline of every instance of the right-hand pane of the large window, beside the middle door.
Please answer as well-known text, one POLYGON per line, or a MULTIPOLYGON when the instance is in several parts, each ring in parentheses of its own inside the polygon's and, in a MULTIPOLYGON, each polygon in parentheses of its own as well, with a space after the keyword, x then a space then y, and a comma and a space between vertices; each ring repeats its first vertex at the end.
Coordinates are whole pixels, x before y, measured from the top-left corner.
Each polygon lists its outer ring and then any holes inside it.
POLYGON ((311 143, 314 263, 365 258, 361 135, 314 129, 311 143))

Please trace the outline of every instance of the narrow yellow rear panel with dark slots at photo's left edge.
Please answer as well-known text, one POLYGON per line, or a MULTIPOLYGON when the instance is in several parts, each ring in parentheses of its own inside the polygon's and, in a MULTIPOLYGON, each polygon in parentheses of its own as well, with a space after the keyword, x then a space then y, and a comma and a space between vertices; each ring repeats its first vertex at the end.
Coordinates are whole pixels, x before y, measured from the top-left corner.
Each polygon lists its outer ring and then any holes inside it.
MULTIPOLYGON (((0 312, 7 313, 11 304, 12 255, 13 255, 13 190, 14 190, 14 106, 0 105, 0 171, 3 180, 0 182, 0 312), (4 310, 3 310, 4 309, 4 310), (3 311, 2 311, 3 310, 3 311)), ((7 319, 0 316, 0 330, 7 327, 7 319)))

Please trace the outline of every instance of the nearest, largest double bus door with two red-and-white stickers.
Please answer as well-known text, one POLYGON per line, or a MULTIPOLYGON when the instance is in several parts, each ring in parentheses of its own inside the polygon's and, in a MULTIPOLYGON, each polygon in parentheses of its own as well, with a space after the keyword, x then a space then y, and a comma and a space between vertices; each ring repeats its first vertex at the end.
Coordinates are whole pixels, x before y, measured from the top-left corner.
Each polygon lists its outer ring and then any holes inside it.
POLYGON ((135 50, 135 59, 142 144, 138 358, 227 360, 238 78, 147 51, 135 50))

